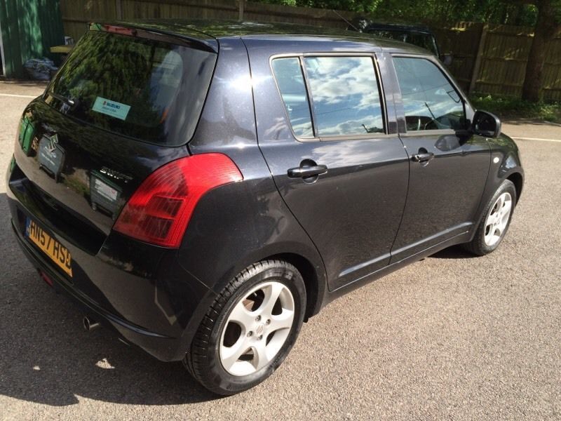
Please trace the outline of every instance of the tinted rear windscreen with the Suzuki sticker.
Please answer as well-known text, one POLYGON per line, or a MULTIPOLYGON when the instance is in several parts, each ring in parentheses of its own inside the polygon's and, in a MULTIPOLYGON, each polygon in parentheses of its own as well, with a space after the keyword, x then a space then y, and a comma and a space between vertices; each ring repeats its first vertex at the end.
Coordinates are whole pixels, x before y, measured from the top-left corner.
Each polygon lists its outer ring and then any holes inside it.
POLYGON ((106 131, 182 145, 201 114, 216 54, 90 31, 48 88, 60 112, 106 131))

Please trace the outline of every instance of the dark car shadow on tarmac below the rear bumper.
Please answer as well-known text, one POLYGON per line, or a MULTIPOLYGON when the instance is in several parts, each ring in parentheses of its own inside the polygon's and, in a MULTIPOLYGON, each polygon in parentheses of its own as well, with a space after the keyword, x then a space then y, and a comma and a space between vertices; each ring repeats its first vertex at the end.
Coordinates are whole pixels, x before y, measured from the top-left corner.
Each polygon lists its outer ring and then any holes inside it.
POLYGON ((41 281, 20 251, 0 194, 0 394, 52 406, 81 396, 112 403, 209 401, 181 363, 162 363, 107 329, 87 333, 82 314, 41 281))

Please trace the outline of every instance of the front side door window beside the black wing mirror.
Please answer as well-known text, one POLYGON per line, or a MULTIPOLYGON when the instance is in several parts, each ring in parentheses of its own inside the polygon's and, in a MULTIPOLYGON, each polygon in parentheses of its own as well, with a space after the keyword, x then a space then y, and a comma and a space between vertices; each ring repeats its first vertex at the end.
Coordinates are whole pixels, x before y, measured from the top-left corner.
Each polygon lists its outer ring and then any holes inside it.
POLYGON ((459 129, 464 102, 454 86, 430 60, 394 57, 407 131, 459 129))

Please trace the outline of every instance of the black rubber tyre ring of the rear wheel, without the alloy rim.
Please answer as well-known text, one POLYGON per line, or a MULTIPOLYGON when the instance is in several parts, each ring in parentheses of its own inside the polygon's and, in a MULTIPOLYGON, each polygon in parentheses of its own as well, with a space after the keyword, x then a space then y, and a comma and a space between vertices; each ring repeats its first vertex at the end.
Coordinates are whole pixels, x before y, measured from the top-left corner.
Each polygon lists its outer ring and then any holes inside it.
MULTIPOLYGON (((219 312, 214 326, 212 327, 208 347, 206 352, 206 361, 208 361, 208 375, 215 387, 219 388, 222 394, 234 394, 259 384, 266 377, 269 377, 278 366, 284 361, 290 349, 295 344, 298 337, 300 328, 302 328, 302 320, 304 319, 304 310, 306 309, 306 289, 302 276, 297 272, 294 267, 290 265, 268 267, 257 274, 254 274, 249 279, 243 281, 233 295, 224 303, 219 312), (295 302, 295 317, 290 328, 288 338, 286 338, 283 347, 280 348, 275 358, 271 360, 264 368, 246 376, 231 375, 227 370, 222 367, 219 356, 219 345, 222 338, 222 328, 227 322, 228 316, 236 306, 236 303, 243 298, 249 291, 257 286, 259 283, 266 281, 276 281, 283 283, 292 293, 292 298, 295 302)), ((216 391, 216 390, 215 390, 216 391)))

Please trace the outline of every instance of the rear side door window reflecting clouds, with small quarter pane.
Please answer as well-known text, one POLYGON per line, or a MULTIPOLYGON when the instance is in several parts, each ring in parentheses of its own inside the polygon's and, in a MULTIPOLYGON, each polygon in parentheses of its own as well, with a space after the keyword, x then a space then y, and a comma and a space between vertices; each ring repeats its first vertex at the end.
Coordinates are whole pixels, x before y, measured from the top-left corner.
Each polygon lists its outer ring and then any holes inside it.
POLYGON ((273 72, 295 135, 330 138, 385 133, 371 56, 306 56, 302 62, 307 84, 299 58, 273 60, 273 72))

